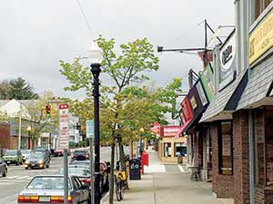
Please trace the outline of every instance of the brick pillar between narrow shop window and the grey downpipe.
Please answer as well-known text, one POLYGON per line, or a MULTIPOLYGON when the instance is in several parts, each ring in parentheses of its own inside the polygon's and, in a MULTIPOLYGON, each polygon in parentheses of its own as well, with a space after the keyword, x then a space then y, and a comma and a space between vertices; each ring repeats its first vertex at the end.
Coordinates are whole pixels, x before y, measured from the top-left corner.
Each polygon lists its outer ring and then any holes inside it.
POLYGON ((233 114, 234 204, 249 204, 248 110, 233 114))

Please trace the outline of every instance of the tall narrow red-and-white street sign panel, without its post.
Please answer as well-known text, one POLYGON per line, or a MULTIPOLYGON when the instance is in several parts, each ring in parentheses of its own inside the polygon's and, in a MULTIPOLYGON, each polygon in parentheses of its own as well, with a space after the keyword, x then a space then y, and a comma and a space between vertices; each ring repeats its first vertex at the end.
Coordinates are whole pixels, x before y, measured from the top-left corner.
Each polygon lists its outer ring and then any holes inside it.
POLYGON ((68 148, 69 141, 69 106, 67 103, 59 104, 59 148, 68 148))

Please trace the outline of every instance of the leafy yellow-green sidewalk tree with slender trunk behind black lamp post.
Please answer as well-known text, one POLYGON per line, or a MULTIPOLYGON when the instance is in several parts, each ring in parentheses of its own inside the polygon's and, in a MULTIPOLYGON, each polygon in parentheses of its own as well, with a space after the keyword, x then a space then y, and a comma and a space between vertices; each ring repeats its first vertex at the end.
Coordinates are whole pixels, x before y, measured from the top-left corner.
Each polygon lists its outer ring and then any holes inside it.
MULTIPOLYGON (((173 101, 173 92, 179 90, 181 80, 175 84, 159 89, 155 93, 148 92, 145 87, 130 87, 132 83, 142 83, 149 78, 145 73, 157 71, 158 58, 154 54, 153 45, 146 38, 136 39, 132 43, 120 44, 120 54, 114 52, 115 40, 106 40, 101 35, 96 43, 103 51, 102 70, 114 82, 114 86, 102 86, 100 101, 100 127, 104 140, 111 143, 111 173, 110 173, 110 199, 113 203, 114 195, 114 155, 115 138, 122 139, 123 143, 133 140, 132 131, 138 128, 149 129, 153 121, 164 121, 162 112, 169 111, 168 102, 173 101), (173 88, 173 92, 169 92, 173 88), (160 102, 159 102, 160 101, 160 102), (135 107, 135 109, 134 109, 135 107)), ((66 91, 86 90, 87 99, 92 97, 92 74, 89 67, 83 67, 76 59, 73 63, 60 61, 62 70, 70 86, 66 91)), ((91 113, 88 117, 93 117, 91 113)), ((120 160, 124 160, 123 145, 120 160)), ((122 168, 125 168, 123 163, 122 168)))

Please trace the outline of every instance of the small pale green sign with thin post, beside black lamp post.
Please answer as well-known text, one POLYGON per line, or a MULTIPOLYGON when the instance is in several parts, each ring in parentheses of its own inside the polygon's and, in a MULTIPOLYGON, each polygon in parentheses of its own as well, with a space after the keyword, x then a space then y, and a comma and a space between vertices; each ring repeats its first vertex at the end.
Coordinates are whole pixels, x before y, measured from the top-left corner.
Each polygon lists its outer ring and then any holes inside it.
POLYGON ((86 121, 86 138, 89 138, 90 151, 90 187, 91 187, 91 204, 95 203, 94 196, 94 165, 93 165, 93 138, 94 138, 94 120, 86 121))

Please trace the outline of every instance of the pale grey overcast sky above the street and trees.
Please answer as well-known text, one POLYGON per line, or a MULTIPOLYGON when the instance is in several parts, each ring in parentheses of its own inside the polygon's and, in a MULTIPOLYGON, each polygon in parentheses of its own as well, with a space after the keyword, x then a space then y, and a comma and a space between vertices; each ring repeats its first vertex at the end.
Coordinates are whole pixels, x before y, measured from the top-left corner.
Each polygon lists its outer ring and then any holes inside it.
MULTIPOLYGON (((234 0, 79 0, 93 33, 114 37, 117 44, 147 37, 166 48, 204 44, 204 26, 234 24, 234 0)), ((59 60, 85 55, 92 41, 77 0, 7 0, 0 6, 0 80, 22 76, 36 92, 66 97, 83 93, 63 91, 66 79, 59 60)), ((160 69, 150 73, 158 85, 201 70, 196 55, 158 54, 160 69)), ((105 79, 103 83, 109 83, 105 79)))

